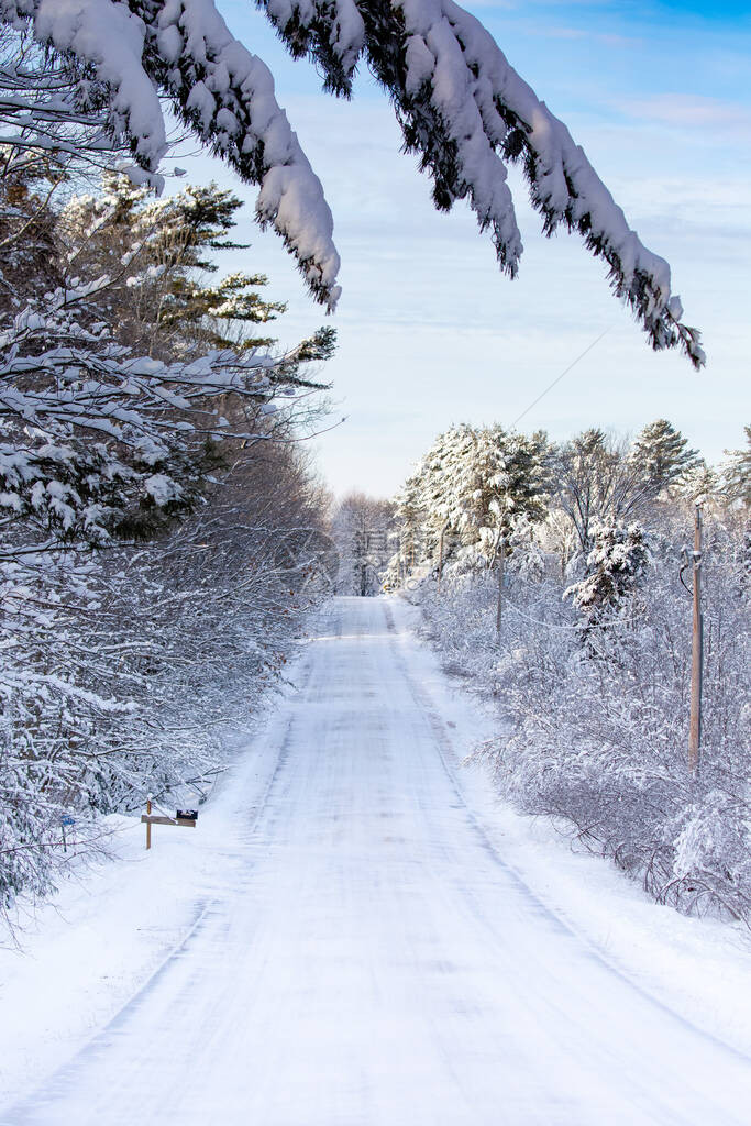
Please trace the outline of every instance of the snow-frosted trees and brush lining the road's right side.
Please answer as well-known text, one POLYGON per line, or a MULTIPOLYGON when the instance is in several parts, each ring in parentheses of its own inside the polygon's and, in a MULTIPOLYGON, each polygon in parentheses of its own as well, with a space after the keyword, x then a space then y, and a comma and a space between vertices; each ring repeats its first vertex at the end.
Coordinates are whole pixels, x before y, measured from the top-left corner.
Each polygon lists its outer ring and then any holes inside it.
POLYGON ((660 902, 751 918, 751 427, 712 467, 665 419, 633 440, 589 429, 561 444, 457 426, 395 506, 386 586, 420 602, 447 667, 497 701, 476 754, 501 792, 660 902))

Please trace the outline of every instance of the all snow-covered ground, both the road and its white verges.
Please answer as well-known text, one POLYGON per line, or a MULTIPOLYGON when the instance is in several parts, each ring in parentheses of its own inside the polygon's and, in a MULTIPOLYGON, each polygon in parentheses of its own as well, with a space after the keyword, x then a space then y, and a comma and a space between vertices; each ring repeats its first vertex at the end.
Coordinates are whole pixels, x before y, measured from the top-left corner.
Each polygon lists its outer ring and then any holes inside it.
POLYGON ((0 950, 0 1123, 746 1123, 751 942, 500 805, 399 599, 339 599, 198 829, 0 950))

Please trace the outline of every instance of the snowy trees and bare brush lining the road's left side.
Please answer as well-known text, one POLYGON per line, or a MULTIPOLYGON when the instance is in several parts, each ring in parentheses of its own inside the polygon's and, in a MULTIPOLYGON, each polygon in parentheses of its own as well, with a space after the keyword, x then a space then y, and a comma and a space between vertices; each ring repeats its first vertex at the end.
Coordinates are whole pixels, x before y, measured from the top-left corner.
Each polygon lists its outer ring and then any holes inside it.
POLYGON ((158 197, 74 60, 5 27, 0 84, 1 908, 102 814, 199 801, 283 676, 328 589, 301 439, 334 341, 278 347, 267 278, 217 266, 241 200, 158 197))

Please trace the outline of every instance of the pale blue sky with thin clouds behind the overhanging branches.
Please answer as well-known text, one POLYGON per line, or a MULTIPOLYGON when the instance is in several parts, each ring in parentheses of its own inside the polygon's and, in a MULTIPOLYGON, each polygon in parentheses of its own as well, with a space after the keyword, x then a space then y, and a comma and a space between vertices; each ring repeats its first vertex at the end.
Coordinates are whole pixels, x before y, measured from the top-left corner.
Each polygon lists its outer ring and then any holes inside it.
MULTIPOLYGON (((342 256, 343 295, 327 366, 347 422, 318 443, 338 492, 388 494, 452 422, 525 417, 565 438, 588 426, 635 431, 669 418, 714 461, 751 420, 751 6, 701 0, 548 0, 467 5, 509 62, 583 145, 650 249, 672 267, 688 323, 709 357, 696 375, 653 354, 576 236, 546 240, 513 177, 525 240, 520 276, 499 272, 490 240, 459 205, 438 215, 414 158, 399 152, 388 104, 363 74, 351 102, 320 90, 250 0, 218 0, 234 34, 271 68, 277 98, 323 181, 342 256)), ((254 193, 207 158, 181 160, 249 200, 250 251, 292 341, 323 322, 292 261, 252 224, 254 193)))

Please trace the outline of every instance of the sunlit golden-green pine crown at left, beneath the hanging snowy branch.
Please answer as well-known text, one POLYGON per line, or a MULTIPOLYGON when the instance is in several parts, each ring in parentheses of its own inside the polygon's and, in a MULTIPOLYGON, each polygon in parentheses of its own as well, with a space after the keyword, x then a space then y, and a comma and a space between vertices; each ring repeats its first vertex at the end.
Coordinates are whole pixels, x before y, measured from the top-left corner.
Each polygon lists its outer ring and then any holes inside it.
POLYGON ((227 238, 240 207, 241 199, 215 184, 155 199, 153 189, 110 172, 96 194, 66 204, 57 231, 69 272, 109 277, 102 311, 131 347, 151 356, 268 347, 275 338, 250 328, 286 309, 260 296, 268 278, 243 271, 213 278, 216 251, 248 249, 227 238))

